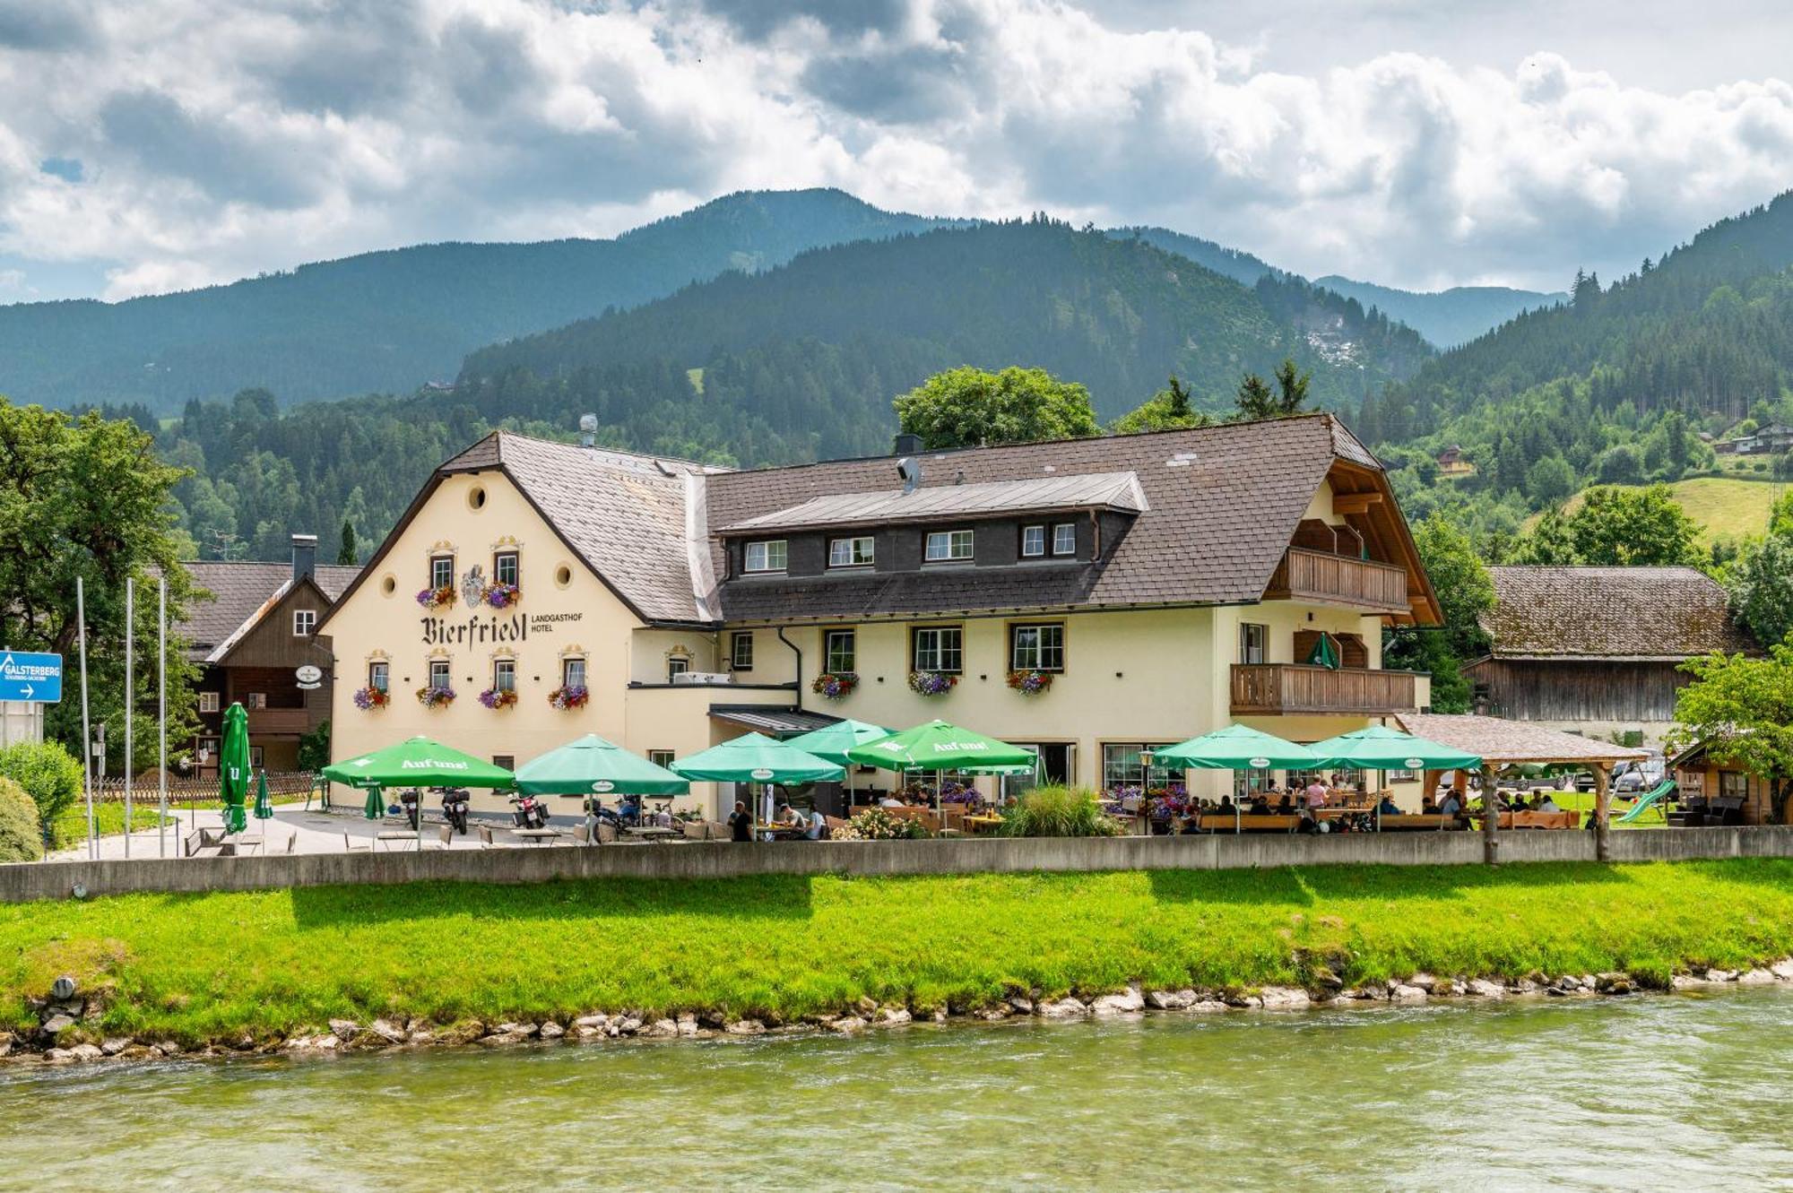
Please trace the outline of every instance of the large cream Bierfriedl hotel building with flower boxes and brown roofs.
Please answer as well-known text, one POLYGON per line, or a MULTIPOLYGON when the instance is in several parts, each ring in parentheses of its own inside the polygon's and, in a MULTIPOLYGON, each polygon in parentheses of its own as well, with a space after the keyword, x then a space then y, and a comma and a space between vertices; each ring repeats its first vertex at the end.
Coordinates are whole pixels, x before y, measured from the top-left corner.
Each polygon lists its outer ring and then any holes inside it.
POLYGON ((1146 751, 1232 720, 1314 742, 1429 704, 1382 668, 1382 629, 1438 623, 1438 598, 1381 462, 1329 416, 902 446, 726 471, 488 435, 325 622, 333 754, 427 733, 511 765, 597 733, 671 760, 945 718, 1047 779, 1130 788, 1171 779, 1146 751))

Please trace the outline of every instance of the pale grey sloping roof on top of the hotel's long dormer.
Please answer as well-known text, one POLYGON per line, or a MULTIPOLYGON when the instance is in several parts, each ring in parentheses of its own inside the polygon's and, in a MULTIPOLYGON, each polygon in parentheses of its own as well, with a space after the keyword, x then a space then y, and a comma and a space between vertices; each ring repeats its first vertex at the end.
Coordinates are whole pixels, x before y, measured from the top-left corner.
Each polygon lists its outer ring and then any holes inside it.
POLYGON ((712 534, 800 530, 805 527, 891 525, 992 514, 1031 514, 1070 509, 1115 509, 1137 514, 1146 494, 1133 473, 1083 473, 993 480, 986 484, 932 484, 884 493, 836 493, 810 498, 791 509, 723 527, 712 534))

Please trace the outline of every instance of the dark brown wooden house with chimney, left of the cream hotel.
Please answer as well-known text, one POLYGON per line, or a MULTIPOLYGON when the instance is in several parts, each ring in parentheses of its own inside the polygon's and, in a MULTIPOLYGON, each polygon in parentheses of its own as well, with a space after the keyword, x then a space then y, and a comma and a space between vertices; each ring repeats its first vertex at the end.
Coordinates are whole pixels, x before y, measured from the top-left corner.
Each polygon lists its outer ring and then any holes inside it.
POLYGON ((201 559, 185 566, 204 593, 176 627, 199 666, 197 774, 217 776, 222 715, 237 700, 249 713, 251 761, 298 768, 299 738, 330 718, 333 695, 330 648, 317 641, 317 627, 360 568, 319 566, 314 534, 292 536, 290 562, 201 559), (323 672, 316 688, 299 684, 301 666, 323 672))

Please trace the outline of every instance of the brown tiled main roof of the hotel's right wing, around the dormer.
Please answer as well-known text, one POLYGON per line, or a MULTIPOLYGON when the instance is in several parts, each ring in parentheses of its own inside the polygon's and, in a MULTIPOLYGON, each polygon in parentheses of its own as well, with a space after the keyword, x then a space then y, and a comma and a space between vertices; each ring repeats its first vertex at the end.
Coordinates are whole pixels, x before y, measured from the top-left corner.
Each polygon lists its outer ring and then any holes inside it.
MULTIPOLYGON (((1146 498, 1103 564, 871 573, 723 586, 726 620, 1051 605, 1225 604, 1264 595, 1327 471, 1375 457, 1329 416, 923 455, 923 485, 1131 473, 1146 498)), ((816 498, 889 491, 895 460, 839 460, 710 476, 714 527, 741 527, 816 498)), ((721 539, 712 566, 723 575, 721 539)))

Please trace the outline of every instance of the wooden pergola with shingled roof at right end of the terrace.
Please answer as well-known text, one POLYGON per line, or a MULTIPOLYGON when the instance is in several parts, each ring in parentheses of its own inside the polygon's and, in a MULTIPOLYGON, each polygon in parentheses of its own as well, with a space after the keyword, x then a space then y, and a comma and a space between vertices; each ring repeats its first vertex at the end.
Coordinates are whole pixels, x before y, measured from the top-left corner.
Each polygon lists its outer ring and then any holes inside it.
MULTIPOLYGON (((1472 717, 1447 713, 1400 713, 1395 720, 1408 733, 1481 756, 1481 819, 1483 854, 1494 865, 1501 851, 1501 817, 1494 813, 1495 772, 1519 765, 1571 765, 1594 772, 1594 856, 1607 860, 1608 810, 1612 802, 1612 768, 1623 761, 1642 761, 1650 754, 1628 745, 1614 745, 1598 738, 1546 729, 1503 717, 1472 717)), ((1438 788, 1443 772, 1425 772, 1425 790, 1438 788)))

